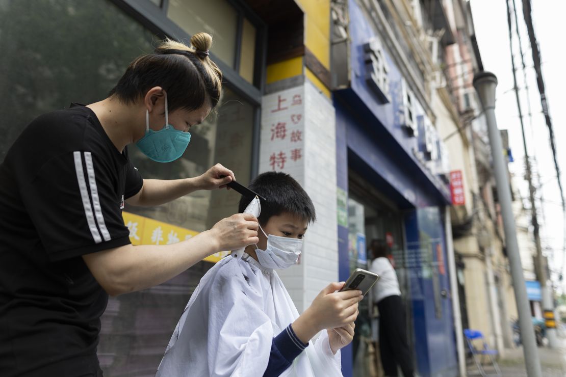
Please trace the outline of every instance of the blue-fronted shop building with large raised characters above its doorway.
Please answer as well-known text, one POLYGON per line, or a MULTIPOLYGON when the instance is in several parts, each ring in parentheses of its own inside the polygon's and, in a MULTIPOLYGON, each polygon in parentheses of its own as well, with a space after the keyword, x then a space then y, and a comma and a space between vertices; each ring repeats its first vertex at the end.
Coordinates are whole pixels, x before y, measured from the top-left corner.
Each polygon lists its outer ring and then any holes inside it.
MULTIPOLYGON (((332 4, 340 279, 367 267, 366 244, 387 242, 416 370, 457 375, 445 239, 452 158, 441 137, 457 127, 439 68, 442 46, 453 43, 439 33, 448 20, 427 2, 332 4)), ((353 355, 342 356, 355 376, 372 373, 365 352, 375 317, 362 302, 353 355)))

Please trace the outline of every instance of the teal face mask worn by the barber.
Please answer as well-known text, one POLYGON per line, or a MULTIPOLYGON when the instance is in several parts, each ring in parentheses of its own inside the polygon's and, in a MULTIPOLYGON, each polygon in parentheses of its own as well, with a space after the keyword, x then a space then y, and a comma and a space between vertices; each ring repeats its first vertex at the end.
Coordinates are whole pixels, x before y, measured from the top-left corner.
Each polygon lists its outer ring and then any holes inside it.
POLYGON ((149 129, 149 112, 145 110, 145 135, 136 145, 141 153, 156 162, 175 161, 185 153, 191 134, 179 131, 169 124, 167 95, 165 94, 165 127, 159 131, 149 129))

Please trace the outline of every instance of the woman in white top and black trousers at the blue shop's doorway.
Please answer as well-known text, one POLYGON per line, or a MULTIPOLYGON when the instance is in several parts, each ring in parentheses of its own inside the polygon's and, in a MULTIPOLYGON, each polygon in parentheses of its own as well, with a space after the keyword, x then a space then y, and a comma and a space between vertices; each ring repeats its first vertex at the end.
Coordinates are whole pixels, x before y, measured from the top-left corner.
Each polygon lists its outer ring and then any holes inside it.
POLYGON ((379 351, 385 376, 397 376, 397 366, 405 377, 414 376, 412 352, 407 343, 405 308, 397 274, 389 262, 388 246, 382 240, 371 241, 374 260, 370 271, 379 275, 372 297, 379 309, 379 351))

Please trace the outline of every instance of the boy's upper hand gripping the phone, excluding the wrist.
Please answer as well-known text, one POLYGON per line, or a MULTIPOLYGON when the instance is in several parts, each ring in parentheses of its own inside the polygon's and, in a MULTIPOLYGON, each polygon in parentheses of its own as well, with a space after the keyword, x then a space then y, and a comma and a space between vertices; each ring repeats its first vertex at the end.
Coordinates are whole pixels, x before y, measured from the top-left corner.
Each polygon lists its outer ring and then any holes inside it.
POLYGON ((358 317, 358 302, 363 298, 362 291, 335 292, 344 287, 344 284, 328 284, 305 310, 318 331, 345 326, 358 317))

